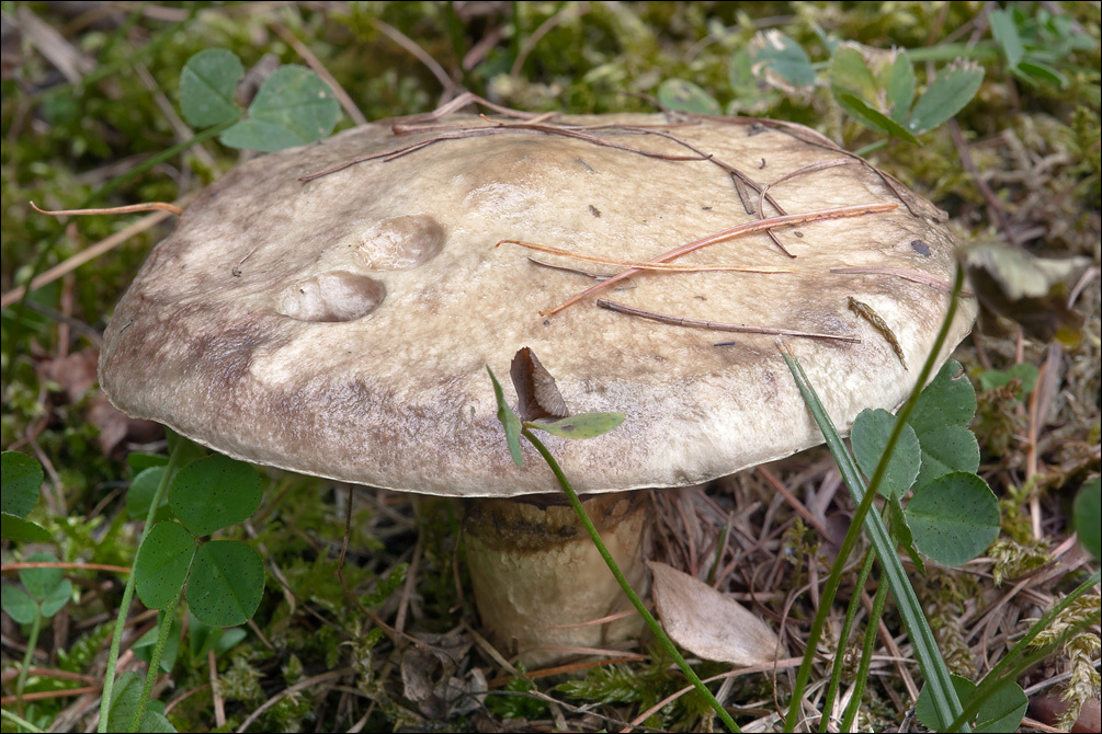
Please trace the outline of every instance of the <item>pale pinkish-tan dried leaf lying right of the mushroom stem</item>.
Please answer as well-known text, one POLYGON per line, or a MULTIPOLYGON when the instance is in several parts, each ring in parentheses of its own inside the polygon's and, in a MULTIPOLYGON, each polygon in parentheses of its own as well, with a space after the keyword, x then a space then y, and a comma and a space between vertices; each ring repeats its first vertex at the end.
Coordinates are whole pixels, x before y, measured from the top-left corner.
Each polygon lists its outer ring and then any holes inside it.
POLYGON ((657 561, 648 565, 658 616, 678 645, 707 660, 738 666, 776 659, 777 636, 753 612, 676 568, 657 561))

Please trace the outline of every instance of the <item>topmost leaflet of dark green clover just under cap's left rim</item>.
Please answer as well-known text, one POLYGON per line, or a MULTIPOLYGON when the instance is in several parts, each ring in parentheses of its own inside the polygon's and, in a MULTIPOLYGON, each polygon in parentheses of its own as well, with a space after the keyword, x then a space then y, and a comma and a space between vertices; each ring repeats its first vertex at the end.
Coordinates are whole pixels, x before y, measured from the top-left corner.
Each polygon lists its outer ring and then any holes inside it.
POLYGON ((263 485, 252 464, 220 453, 187 464, 169 487, 169 506, 196 536, 248 519, 262 499, 263 485))

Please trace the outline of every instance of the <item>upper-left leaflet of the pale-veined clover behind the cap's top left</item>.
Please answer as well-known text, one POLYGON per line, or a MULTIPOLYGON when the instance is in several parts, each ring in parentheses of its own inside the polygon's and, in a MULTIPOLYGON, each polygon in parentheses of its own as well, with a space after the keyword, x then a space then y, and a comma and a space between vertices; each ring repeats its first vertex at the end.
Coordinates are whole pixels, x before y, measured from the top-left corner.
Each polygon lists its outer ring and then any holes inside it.
POLYGON ((180 73, 180 109, 187 124, 209 128, 240 117, 234 103, 241 61, 225 48, 207 48, 187 59, 180 73))

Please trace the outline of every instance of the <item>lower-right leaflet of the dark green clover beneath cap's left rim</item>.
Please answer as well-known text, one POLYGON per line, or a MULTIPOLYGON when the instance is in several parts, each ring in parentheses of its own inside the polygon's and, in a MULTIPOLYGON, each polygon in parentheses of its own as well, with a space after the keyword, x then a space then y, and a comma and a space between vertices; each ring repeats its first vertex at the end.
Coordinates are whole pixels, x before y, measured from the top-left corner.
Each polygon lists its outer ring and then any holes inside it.
POLYGON ((264 594, 264 563, 256 550, 237 540, 204 544, 187 581, 187 604, 212 627, 245 624, 264 594))

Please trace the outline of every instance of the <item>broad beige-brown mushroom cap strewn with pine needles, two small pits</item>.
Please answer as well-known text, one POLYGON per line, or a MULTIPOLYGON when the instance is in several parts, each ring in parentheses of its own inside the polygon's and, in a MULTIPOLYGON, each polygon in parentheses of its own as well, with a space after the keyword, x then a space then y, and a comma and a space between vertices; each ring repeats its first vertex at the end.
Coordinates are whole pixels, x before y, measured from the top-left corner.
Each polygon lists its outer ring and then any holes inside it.
MULTIPOLYGON (((789 213, 899 206, 777 229, 795 258, 758 233, 677 261, 791 273, 647 272, 601 295, 860 338, 786 337, 840 430, 914 387, 948 307, 954 244, 944 213, 898 182, 789 123, 514 123, 454 116, 396 134, 381 121, 238 166, 187 208, 118 304, 105 393, 131 416, 257 463, 429 494, 519 495, 554 480, 527 445, 525 465, 512 463, 486 365, 504 377, 530 347, 572 413, 627 415, 598 438, 548 437, 580 491, 681 486, 779 459, 822 436, 777 337, 655 322, 592 296, 544 317, 594 280, 532 259, 623 269, 495 248, 526 240, 647 261, 758 218, 747 213, 755 184, 771 185, 789 213), (750 184, 736 186, 732 169, 750 184)), ((974 317, 965 302, 941 359, 974 317)))

